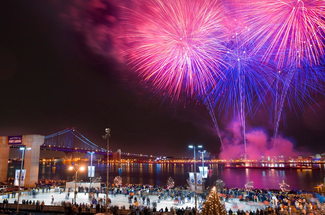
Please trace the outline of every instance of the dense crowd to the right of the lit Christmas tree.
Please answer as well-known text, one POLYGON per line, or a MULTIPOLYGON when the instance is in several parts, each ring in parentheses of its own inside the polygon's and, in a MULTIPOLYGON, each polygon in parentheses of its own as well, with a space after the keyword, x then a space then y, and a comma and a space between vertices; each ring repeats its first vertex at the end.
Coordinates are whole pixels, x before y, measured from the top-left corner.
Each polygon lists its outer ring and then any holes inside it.
POLYGON ((282 191, 277 189, 252 189, 245 191, 243 188, 227 188, 219 189, 220 199, 226 208, 226 199, 239 198, 239 201, 246 204, 260 206, 256 211, 244 211, 238 208, 236 203, 232 204, 232 209, 228 210, 228 214, 237 215, 315 215, 325 214, 324 194, 299 194, 300 192, 282 191), (245 194, 244 194, 245 193, 245 194))

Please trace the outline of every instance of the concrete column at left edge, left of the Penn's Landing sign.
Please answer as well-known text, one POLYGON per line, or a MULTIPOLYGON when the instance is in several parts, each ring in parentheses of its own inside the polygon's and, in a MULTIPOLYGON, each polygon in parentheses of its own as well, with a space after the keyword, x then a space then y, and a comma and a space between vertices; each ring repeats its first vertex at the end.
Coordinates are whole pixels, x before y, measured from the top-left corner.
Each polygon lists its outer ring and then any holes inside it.
POLYGON ((7 136, 0 136, 0 181, 7 179, 9 148, 7 136))

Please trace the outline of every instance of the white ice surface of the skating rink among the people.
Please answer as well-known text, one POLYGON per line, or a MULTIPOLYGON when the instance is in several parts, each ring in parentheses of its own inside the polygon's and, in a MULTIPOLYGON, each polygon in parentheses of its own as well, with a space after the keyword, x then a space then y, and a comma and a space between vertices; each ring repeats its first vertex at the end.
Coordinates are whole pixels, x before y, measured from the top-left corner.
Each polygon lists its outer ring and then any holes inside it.
MULTIPOLYGON (((36 195, 36 198, 32 198, 32 195, 25 195, 25 196, 21 196, 19 197, 19 202, 21 203, 21 201, 23 199, 25 200, 35 200, 35 202, 37 200, 39 200, 40 202, 44 201, 45 202, 45 205, 51 205, 51 196, 53 195, 54 197, 54 203, 61 203, 61 201, 69 201, 69 202, 72 202, 72 199, 74 198, 74 195, 73 193, 70 193, 70 199, 69 200, 66 200, 65 199, 65 196, 66 196, 66 193, 62 193, 62 194, 59 194, 59 193, 39 193, 36 195)), ((104 198, 104 195, 105 194, 99 194, 99 197, 102 197, 104 198)), ((96 196, 96 195, 95 195, 96 196)), ((111 199, 111 205, 114 206, 114 205, 117 205, 119 206, 119 208, 121 208, 123 205, 125 206, 125 208, 129 208, 129 203, 128 203, 128 198, 125 197, 123 194, 118 194, 116 195, 116 197, 112 197, 111 195, 109 195, 110 199, 111 199)), ((152 203, 153 201, 156 201, 158 200, 157 196, 149 196, 150 198, 150 207, 152 207, 152 203)), ((8 203, 14 203, 15 199, 17 199, 17 196, 16 198, 9 198, 8 199, 8 203)), ((140 200, 140 198, 138 197, 138 200, 142 203, 142 199, 140 200)), ((167 199, 167 200, 161 200, 160 203, 157 203, 157 209, 159 210, 160 208, 163 208, 165 209, 165 207, 168 208, 168 211, 170 211, 170 208, 171 207, 174 207, 174 208, 186 208, 186 206, 188 207, 195 207, 195 203, 194 202, 186 202, 187 199, 185 199, 185 204, 175 204, 175 201, 172 201, 171 198, 167 199)), ((90 203, 90 201, 88 201, 88 194, 84 194, 84 193, 78 193, 77 195, 77 203, 90 203)), ((232 198, 232 199, 229 199, 229 202, 227 203, 226 202, 226 210, 228 211, 230 208, 235 212, 236 210, 234 209, 234 203, 237 203, 238 205, 238 208, 240 210, 256 210, 256 208, 265 208, 265 206, 263 205, 263 203, 260 203, 260 202, 248 202, 248 204, 246 205, 245 202, 240 202, 238 198, 232 198)), ((147 201, 145 201, 145 204, 147 204, 147 201)), ((199 202, 198 202, 198 205, 199 205, 199 202)))

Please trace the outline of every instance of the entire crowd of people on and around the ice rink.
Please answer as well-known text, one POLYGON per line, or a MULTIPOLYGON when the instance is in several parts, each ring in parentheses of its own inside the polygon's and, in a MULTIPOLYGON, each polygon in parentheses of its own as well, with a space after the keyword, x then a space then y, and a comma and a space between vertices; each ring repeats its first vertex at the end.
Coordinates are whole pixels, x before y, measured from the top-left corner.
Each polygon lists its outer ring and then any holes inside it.
MULTIPOLYGON (((13 179, 8 178, 7 182, 12 182, 13 179)), ((149 184, 120 184, 109 185, 108 196, 100 197, 99 194, 106 194, 106 184, 102 183, 100 187, 78 187, 77 191, 73 191, 72 187, 64 187, 64 180, 46 180, 40 179, 35 183, 35 187, 28 188, 28 194, 35 198, 40 190, 42 193, 48 192, 48 190, 55 189, 55 192, 66 192, 65 201, 54 201, 52 195, 51 205, 63 206, 66 214, 81 213, 85 208, 86 213, 90 213, 90 208, 96 208, 96 212, 105 212, 105 204, 107 202, 110 212, 116 214, 119 206, 112 205, 112 199, 116 195, 123 195, 128 199, 130 214, 135 215, 149 215, 149 214, 163 214, 170 211, 176 215, 192 215, 195 214, 195 208, 185 207, 185 202, 194 202, 194 193, 190 192, 187 187, 179 186, 170 188, 167 185, 149 185, 149 184), (63 187, 61 187, 63 186, 63 187), (75 199, 72 202, 69 201, 70 192, 72 194, 82 193, 88 195, 88 203, 76 203, 75 199), (151 196, 149 198, 149 195, 151 196), (156 198, 152 199, 152 196, 156 198), (150 202, 151 199, 151 202, 150 202), (174 201, 172 208, 160 208, 159 204, 164 200, 174 201), (184 207, 181 207, 184 205, 184 207)), ((209 189, 209 188, 208 188, 209 189)), ((208 189, 205 193, 197 194, 198 207, 201 209, 204 205, 206 196, 208 195, 208 189)), ((229 214, 237 215, 315 215, 324 214, 325 203, 324 195, 312 196, 309 194, 299 194, 296 191, 282 192, 277 189, 252 189, 247 191, 244 188, 219 188, 219 195, 222 205, 228 210, 229 214), (310 197, 311 196, 311 197, 310 197), (249 204, 251 206, 259 206, 260 209, 253 211, 240 210, 236 202, 229 202, 231 199, 239 199, 243 204, 249 204), (226 204, 230 203, 230 204, 226 204), (233 209, 233 210, 232 210, 233 209)), ((15 194, 12 193, 12 197, 15 194)), ((4 200, 7 203, 7 200, 4 200)), ((17 203, 17 201, 15 201, 17 203)), ((39 200, 22 200, 22 204, 36 205, 36 210, 43 212, 44 201, 39 200)), ((121 207, 121 209, 125 206, 121 207)))

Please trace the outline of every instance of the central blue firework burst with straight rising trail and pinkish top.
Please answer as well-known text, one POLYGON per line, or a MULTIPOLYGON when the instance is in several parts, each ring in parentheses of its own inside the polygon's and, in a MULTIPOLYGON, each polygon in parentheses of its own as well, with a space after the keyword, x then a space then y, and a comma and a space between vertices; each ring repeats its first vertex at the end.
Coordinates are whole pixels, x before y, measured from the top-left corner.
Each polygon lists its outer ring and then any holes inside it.
MULTIPOLYGON (((259 62, 260 56, 253 54, 254 42, 248 41, 250 29, 242 25, 238 19, 232 19, 235 24, 232 35, 228 38, 226 62, 231 66, 224 71, 225 79, 219 80, 211 90, 208 98, 213 101, 213 107, 225 110, 233 108, 234 115, 238 114, 247 158, 246 125, 247 114, 254 115, 254 110, 265 102, 269 88, 266 79, 269 67, 259 62), (237 113, 235 113, 237 111, 237 113)), ((211 114, 210 114, 211 115, 211 114)))

